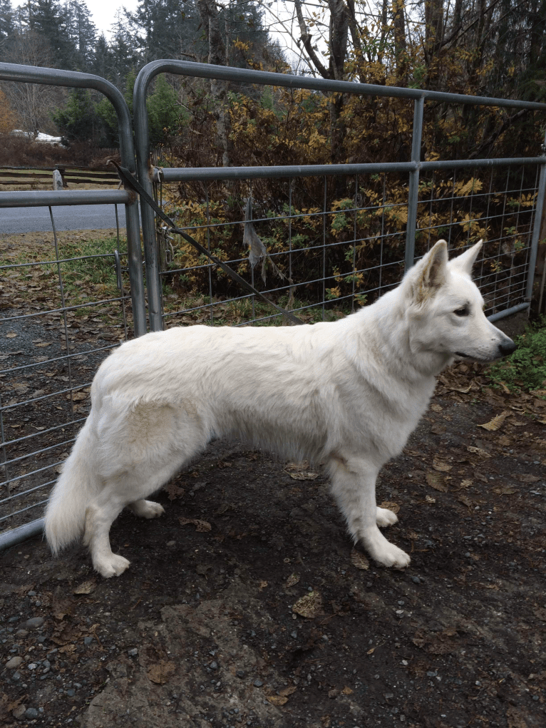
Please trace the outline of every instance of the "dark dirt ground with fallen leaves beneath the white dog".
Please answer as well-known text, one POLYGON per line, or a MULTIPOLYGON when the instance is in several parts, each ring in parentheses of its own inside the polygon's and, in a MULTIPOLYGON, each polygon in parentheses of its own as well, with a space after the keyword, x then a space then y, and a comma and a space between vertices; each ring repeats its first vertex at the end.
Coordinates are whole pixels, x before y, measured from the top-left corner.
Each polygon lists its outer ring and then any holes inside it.
POLYGON ((546 402, 483 381, 440 376, 381 472, 405 571, 353 549, 320 469, 223 441, 114 523, 122 577, 0 553, 0 723, 543 728, 546 402))

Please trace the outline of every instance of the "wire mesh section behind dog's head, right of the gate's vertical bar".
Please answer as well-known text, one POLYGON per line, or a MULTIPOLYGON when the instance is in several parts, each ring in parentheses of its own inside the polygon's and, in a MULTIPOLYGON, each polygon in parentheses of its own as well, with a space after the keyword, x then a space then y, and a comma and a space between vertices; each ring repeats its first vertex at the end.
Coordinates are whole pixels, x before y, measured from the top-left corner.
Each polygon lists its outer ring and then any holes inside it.
POLYGON ((425 173, 419 183, 416 255, 440 238, 456 250, 481 237, 475 280, 486 314, 523 304, 538 185, 536 165, 425 173))

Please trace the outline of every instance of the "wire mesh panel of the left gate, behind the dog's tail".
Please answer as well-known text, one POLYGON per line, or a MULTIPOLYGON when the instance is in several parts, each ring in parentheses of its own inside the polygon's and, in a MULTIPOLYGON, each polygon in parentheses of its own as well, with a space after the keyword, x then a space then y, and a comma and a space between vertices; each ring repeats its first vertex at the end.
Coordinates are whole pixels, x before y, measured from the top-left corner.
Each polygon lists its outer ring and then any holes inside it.
POLYGON ((0 531, 42 515, 98 364, 133 334, 125 242, 50 215, 50 234, 0 242, 0 531))

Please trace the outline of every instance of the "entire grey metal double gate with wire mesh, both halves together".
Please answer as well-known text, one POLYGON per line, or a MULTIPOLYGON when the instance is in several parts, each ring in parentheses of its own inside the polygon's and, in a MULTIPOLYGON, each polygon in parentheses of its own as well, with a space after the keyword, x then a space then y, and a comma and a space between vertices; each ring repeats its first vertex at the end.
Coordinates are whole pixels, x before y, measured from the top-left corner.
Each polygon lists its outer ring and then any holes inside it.
MULTIPOLYGON (((26 83, 87 87, 103 92, 119 119, 122 165, 132 173, 134 155, 127 105, 114 86, 98 76, 47 68, 0 64, 0 79, 26 83)), ((546 157, 422 161, 425 102, 495 106, 546 111, 546 104, 481 98, 416 89, 326 81, 288 74, 158 60, 145 66, 133 97, 138 179, 162 204, 170 183, 198 205, 201 218, 191 223, 171 199, 167 210, 179 227, 232 266, 266 297, 305 322, 332 320, 355 306, 370 303, 392 285, 435 240, 450 248, 477 240, 488 229, 483 257, 476 266, 490 320, 528 309, 537 260, 546 157), (407 99, 414 103, 411 158, 406 162, 285 167, 149 167, 146 91, 157 74, 168 73, 231 84, 289 87, 324 94, 356 94, 407 99), (274 180, 274 199, 262 181, 274 180), (344 190, 343 199, 333 191, 344 190), (394 182, 407 185, 407 197, 392 196, 394 182), (219 187, 223 184, 224 188, 219 187), (223 214, 218 193, 237 198, 235 212, 223 214), (269 193, 268 193, 269 194, 269 193), (216 197, 216 201, 215 201, 216 197), (299 208, 295 199, 307 200, 299 208), (243 213, 245 200, 250 199, 243 213), (249 251, 245 242, 260 241, 249 251), (235 244, 234 242, 235 241, 235 244), (280 242, 281 241, 281 242, 280 242), (282 243, 282 244, 281 244, 282 243), (231 245, 231 248, 230 248, 231 245), (256 263, 262 262, 263 277, 256 263), (277 277, 274 270, 280 269, 277 277)), ((135 336, 146 332, 138 203, 127 190, 0 192, 0 207, 123 203, 127 214, 130 296, 135 336)), ((53 215, 52 222, 54 220, 53 215)), ((146 264, 149 329, 170 325, 265 325, 281 323, 282 314, 252 293, 226 285, 213 261, 198 256, 169 234, 154 210, 141 200, 141 229, 146 264), (196 293, 197 288, 199 294, 196 293)), ((0 231, 1 232, 1 231, 0 231)), ((55 230, 54 230, 55 232, 55 230)), ((117 250, 63 257, 57 237, 43 260, 0 261, 0 280, 12 279, 31 291, 40 276, 58 280, 58 301, 5 301, 0 341, 0 428, 3 477, 0 483, 0 547, 39 532, 39 518, 55 473, 89 410, 88 388, 100 360, 130 333, 127 329, 123 271, 117 250), (77 266, 100 258, 116 269, 121 293, 96 300, 77 297, 77 266), (23 273, 23 271, 25 271, 23 273), (27 272, 28 271, 28 272, 27 272), (66 296, 65 280, 70 282, 66 296), (23 304, 22 306, 14 304, 23 304), (51 344, 57 329, 62 341, 51 344), (26 334, 23 332, 26 331, 26 334), (100 338, 106 331, 106 339, 100 338), (119 333, 119 336, 116 334, 119 333), (28 333, 30 332, 30 333, 28 333), (113 333, 114 332, 114 333, 113 333), (47 339, 47 340, 44 340, 47 339), (23 341, 23 344, 18 342, 23 341), (43 345, 44 351, 39 349, 43 345), (47 352, 48 355, 43 355, 47 352)), ((100 291, 100 287, 97 289, 100 291)), ((4 294, 6 295, 6 294, 4 294)), ((11 297, 11 293, 7 296, 11 297)), ((0 300, 2 300, 0 298, 0 300)))

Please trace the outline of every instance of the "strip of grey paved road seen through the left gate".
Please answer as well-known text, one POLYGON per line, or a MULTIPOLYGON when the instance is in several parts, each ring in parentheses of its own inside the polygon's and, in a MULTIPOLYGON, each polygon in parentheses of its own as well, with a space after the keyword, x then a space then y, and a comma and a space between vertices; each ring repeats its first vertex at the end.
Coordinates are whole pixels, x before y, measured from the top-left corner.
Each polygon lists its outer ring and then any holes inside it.
MULTIPOLYGON (((67 205, 52 207, 58 230, 104 230, 116 227, 114 205, 67 205)), ((119 226, 125 227, 125 207, 117 206, 119 226)), ((0 233, 45 232, 51 230, 47 207, 0 208, 0 233)))

